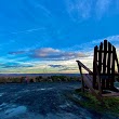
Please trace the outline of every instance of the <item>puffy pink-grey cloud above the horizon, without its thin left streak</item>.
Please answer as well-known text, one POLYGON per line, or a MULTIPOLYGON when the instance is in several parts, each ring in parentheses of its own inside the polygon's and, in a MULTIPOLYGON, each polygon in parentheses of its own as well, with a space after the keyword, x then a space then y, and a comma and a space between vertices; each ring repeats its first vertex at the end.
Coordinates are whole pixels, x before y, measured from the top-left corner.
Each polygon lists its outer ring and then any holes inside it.
POLYGON ((47 61, 67 61, 77 57, 87 57, 88 55, 83 53, 66 52, 52 48, 44 48, 44 49, 36 50, 29 56, 34 58, 41 58, 47 61))

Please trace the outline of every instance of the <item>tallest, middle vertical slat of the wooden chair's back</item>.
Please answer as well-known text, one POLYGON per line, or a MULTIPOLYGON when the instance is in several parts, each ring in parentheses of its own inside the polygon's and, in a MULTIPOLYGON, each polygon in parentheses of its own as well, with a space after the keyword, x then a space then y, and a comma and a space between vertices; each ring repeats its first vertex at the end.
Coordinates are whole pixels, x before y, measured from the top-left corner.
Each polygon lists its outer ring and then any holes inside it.
MULTIPOLYGON (((107 40, 104 40, 104 58, 103 58, 103 75, 106 74, 106 55, 107 55, 107 40)), ((106 88, 106 79, 102 79, 103 89, 106 88)))

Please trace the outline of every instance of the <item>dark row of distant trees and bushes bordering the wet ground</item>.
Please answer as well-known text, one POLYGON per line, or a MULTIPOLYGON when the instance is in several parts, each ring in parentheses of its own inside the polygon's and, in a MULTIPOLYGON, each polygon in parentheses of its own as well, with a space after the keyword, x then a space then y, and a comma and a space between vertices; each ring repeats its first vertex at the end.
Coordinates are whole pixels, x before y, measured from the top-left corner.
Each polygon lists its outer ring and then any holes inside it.
MULTIPOLYGON (((0 83, 24 83, 26 77, 0 77, 0 83)), ((55 82, 55 81, 79 81, 79 77, 50 76, 50 77, 27 77, 28 82, 55 82)))

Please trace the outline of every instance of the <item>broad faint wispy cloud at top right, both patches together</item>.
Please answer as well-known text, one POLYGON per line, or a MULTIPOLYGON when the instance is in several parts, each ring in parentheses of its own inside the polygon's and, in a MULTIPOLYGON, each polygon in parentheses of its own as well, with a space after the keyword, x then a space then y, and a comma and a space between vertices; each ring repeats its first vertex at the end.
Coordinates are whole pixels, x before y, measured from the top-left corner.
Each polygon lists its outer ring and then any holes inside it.
MULTIPOLYGON (((109 12, 109 6, 113 0, 66 0, 66 10, 69 17, 74 22, 80 22, 90 17, 101 19, 106 12, 109 12)), ((117 3, 115 4, 115 6, 117 3)))

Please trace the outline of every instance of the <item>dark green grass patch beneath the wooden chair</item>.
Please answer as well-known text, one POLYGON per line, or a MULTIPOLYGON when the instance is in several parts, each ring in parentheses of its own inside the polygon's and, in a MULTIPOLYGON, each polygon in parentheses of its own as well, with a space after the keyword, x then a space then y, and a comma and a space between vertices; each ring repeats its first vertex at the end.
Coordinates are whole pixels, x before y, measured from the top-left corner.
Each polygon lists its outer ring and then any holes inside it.
POLYGON ((103 115, 109 114, 119 117, 119 97, 105 97, 103 98, 103 103, 101 103, 91 93, 82 93, 79 90, 72 92, 69 97, 87 109, 94 110, 103 115), (72 95, 81 96, 81 98, 78 100, 72 95))

